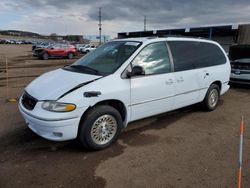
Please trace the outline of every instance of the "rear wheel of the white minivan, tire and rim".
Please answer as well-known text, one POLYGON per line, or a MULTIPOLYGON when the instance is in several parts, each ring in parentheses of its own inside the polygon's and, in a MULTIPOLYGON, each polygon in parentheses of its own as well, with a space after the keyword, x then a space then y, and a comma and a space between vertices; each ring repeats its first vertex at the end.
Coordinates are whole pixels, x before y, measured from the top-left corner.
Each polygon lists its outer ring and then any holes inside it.
POLYGON ((220 88, 217 84, 212 84, 207 90, 203 105, 206 111, 213 111, 220 100, 220 88))

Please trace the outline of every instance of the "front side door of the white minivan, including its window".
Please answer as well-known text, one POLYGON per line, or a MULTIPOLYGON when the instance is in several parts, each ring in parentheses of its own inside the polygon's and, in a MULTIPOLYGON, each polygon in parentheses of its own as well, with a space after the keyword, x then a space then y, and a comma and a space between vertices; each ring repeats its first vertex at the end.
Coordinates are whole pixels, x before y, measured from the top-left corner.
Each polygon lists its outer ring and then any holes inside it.
POLYGON ((166 112, 173 107, 175 76, 166 42, 149 44, 132 61, 145 75, 131 78, 131 121, 166 112))

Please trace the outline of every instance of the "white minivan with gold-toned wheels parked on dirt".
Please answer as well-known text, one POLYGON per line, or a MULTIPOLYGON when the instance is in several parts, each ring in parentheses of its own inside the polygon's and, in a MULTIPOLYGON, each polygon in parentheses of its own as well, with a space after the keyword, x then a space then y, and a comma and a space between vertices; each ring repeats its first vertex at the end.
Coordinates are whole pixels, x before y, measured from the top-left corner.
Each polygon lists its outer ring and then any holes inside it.
POLYGON ((78 138, 86 148, 103 149, 129 122, 199 102, 214 110, 229 77, 229 60, 216 42, 120 39, 36 78, 19 109, 46 139, 78 138))

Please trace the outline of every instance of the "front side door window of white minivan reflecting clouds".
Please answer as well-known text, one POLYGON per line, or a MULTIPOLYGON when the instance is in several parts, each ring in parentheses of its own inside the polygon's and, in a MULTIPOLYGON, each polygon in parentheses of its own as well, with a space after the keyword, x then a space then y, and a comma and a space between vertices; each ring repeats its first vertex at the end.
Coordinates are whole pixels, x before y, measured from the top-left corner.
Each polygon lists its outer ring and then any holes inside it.
POLYGON ((132 67, 141 66, 145 75, 171 72, 171 64, 165 42, 146 46, 132 61, 132 67))

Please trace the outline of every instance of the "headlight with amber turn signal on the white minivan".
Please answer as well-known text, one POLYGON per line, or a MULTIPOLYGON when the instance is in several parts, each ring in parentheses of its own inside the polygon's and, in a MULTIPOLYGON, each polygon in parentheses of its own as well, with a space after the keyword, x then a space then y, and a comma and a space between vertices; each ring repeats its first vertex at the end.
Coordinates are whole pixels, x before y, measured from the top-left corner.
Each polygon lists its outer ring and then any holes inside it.
POLYGON ((42 104, 42 108, 52 112, 70 112, 76 109, 76 105, 56 101, 45 101, 42 104))

